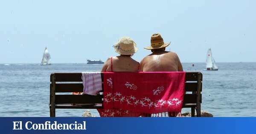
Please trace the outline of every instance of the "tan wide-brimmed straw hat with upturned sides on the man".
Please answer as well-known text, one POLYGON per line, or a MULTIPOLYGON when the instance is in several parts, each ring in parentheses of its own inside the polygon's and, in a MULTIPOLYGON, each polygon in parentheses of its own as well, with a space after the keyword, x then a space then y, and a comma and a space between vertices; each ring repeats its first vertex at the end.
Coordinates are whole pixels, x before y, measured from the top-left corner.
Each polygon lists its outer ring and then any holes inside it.
POLYGON ((151 45, 148 47, 145 47, 145 49, 151 50, 151 49, 159 49, 159 48, 165 48, 166 46, 169 46, 171 42, 164 43, 163 38, 161 37, 161 34, 153 34, 151 36, 151 45))

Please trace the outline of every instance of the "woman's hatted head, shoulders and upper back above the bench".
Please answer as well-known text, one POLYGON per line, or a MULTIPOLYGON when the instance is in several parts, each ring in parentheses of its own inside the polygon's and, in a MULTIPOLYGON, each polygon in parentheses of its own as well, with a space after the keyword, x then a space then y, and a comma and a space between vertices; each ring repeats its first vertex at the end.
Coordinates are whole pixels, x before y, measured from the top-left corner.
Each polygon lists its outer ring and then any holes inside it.
POLYGON ((120 54, 116 57, 109 57, 102 67, 102 72, 137 72, 140 63, 132 59, 131 56, 137 52, 136 43, 130 37, 122 37, 113 48, 116 53, 120 54))

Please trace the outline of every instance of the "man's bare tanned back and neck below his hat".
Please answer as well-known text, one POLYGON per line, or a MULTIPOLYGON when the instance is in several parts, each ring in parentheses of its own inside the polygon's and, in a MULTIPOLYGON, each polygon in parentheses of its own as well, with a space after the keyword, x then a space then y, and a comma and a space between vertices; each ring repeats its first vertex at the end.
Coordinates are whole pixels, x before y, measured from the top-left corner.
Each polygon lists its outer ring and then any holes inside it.
POLYGON ((165 48, 151 50, 140 62, 140 71, 183 71, 178 55, 165 48))

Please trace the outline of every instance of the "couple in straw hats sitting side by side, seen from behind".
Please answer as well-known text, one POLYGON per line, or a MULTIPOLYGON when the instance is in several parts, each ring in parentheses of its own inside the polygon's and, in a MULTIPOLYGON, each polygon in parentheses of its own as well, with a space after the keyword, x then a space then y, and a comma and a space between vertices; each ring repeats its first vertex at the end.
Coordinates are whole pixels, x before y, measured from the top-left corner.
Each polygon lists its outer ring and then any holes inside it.
POLYGON ((151 46, 145 49, 152 54, 139 63, 131 58, 137 52, 136 43, 130 37, 122 37, 113 47, 120 56, 110 57, 102 67, 102 72, 138 72, 138 71, 183 71, 176 53, 165 51, 170 43, 164 43, 160 34, 151 36, 151 46))

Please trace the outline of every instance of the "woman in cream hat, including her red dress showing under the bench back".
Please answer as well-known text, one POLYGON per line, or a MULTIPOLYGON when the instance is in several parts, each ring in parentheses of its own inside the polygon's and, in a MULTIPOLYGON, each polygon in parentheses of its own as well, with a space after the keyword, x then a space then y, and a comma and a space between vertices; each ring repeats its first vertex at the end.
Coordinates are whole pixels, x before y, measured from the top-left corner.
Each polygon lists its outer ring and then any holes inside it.
MULTIPOLYGON (((140 63, 132 59, 131 56, 137 52, 138 48, 136 43, 130 37, 122 37, 119 39, 113 48, 116 53, 120 54, 116 57, 109 57, 102 67, 102 72, 138 72, 140 63)), ((109 116, 103 109, 98 109, 101 116, 109 116)), ((134 113, 129 111, 128 114, 126 110, 122 109, 108 109, 108 113, 119 113, 112 114, 113 117, 138 117, 141 113, 134 113), (121 114, 123 113, 123 114, 121 114)))

